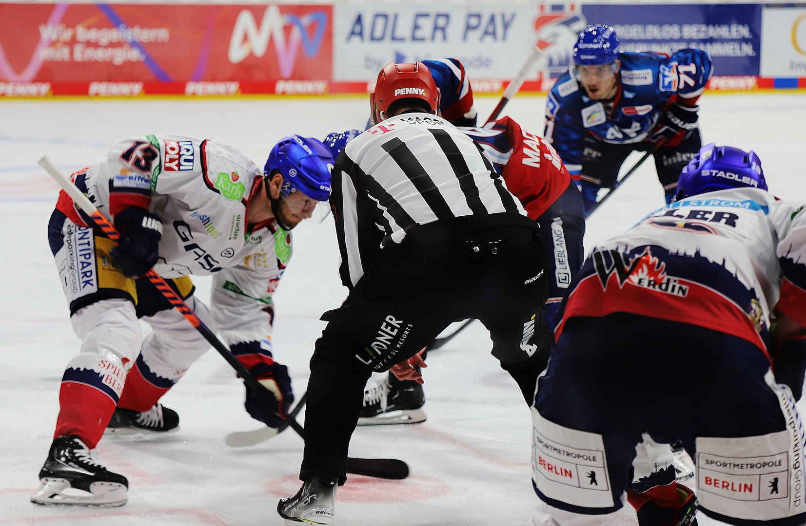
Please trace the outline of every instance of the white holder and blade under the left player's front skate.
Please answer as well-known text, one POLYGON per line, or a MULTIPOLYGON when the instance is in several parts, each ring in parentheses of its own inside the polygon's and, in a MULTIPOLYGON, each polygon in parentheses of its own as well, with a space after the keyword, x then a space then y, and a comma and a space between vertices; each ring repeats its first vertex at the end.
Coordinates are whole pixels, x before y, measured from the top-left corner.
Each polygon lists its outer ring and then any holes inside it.
POLYGON ((31 495, 40 506, 120 507, 127 503, 127 487, 118 483, 92 483, 89 491, 71 487, 64 478, 44 478, 31 495))

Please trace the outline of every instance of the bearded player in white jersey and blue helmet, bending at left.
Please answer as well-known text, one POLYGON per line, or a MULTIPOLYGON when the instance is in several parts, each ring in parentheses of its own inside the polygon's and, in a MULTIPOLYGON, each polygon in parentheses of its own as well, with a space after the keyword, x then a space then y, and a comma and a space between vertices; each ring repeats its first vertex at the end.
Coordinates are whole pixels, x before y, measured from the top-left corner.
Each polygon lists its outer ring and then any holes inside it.
POLYGON ((60 193, 48 238, 82 343, 64 371, 56 432, 32 502, 122 506, 126 477, 91 452, 104 429, 177 430, 177 413, 158 400, 209 344, 138 278, 151 267, 272 391, 247 389, 251 416, 282 423, 293 394, 286 367, 272 359, 271 294, 291 257, 289 230, 330 196, 332 162, 322 143, 297 135, 272 148, 264 172, 223 144, 147 135, 73 174, 121 235, 116 246, 60 193), (189 274, 214 275, 212 309, 193 296, 189 274), (153 329, 144 341, 140 318, 153 329))

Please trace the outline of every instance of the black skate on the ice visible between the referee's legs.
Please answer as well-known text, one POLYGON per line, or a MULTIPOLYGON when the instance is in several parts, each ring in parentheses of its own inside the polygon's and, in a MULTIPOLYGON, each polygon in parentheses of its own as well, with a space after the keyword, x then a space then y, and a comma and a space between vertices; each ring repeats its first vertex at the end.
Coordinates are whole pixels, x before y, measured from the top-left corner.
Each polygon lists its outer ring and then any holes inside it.
POLYGON ((358 425, 417 424, 426 421, 426 394, 414 380, 388 378, 364 391, 358 425))

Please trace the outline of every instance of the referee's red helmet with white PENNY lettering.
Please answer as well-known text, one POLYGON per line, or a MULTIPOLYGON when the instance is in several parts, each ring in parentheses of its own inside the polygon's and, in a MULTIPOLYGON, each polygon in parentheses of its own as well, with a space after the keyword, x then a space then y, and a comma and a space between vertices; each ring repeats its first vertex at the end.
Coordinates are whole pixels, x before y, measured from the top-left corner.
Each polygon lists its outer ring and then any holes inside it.
POLYGON ((439 88, 426 64, 419 60, 414 64, 389 62, 380 70, 369 96, 372 124, 383 121, 389 106, 405 98, 426 101, 434 115, 439 110, 439 88))

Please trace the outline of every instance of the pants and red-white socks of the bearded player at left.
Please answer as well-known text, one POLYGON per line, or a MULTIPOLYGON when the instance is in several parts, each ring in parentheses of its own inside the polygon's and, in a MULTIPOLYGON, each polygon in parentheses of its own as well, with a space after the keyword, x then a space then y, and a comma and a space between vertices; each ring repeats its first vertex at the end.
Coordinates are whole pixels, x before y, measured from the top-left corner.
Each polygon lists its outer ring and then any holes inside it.
MULTIPOLYGON (((147 411, 210 344, 148 280, 123 276, 110 239, 53 213, 48 228, 81 353, 62 377, 54 437, 77 435, 92 449, 115 407, 147 411), (136 303, 136 305, 135 305, 136 303), (139 318, 152 327, 143 340, 139 318)), ((206 304, 191 296, 188 277, 168 280, 213 326, 206 304)))

